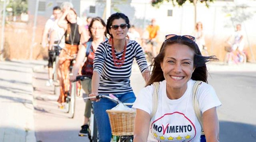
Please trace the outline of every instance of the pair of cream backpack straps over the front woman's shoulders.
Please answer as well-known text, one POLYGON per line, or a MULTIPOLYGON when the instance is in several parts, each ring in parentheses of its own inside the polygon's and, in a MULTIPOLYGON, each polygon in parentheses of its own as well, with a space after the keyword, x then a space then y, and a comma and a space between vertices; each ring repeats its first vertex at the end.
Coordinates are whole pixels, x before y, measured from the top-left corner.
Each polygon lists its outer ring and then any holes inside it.
MULTIPOLYGON (((196 81, 194 86, 193 86, 193 108, 194 108, 194 111, 196 113, 196 117, 197 117, 197 119, 198 119, 198 121, 201 125, 201 128, 202 128, 201 136, 200 136, 200 142, 206 142, 205 135, 204 135, 204 130, 203 130, 203 124, 202 124, 202 114, 200 112, 199 103, 198 103, 198 100, 196 98, 198 87, 201 84, 202 84, 202 81, 196 81)), ((156 110, 157 110, 157 107, 158 107, 159 82, 154 82, 153 85, 154 85, 153 105, 152 105, 152 113, 150 115, 150 119, 152 119, 155 116, 156 110)))

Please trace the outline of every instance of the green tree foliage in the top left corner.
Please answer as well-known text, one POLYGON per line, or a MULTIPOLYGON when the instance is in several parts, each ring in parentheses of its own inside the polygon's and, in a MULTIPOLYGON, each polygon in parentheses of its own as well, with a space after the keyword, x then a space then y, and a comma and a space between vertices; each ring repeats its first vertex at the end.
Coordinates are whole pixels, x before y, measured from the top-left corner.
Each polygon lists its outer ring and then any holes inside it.
POLYGON ((13 16, 19 16, 21 13, 28 13, 28 0, 10 0, 6 8, 12 8, 13 16))

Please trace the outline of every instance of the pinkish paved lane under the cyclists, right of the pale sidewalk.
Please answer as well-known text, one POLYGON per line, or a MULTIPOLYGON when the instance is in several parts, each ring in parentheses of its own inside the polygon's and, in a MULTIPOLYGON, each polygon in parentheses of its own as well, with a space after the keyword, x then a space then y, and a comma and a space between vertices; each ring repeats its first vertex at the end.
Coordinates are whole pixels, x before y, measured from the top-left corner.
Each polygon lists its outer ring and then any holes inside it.
POLYGON ((43 65, 34 68, 34 119, 36 140, 39 142, 86 142, 87 137, 78 137, 83 123, 85 103, 82 98, 76 100, 74 118, 69 118, 64 109, 57 107, 58 95, 53 87, 45 86, 47 69, 43 65))

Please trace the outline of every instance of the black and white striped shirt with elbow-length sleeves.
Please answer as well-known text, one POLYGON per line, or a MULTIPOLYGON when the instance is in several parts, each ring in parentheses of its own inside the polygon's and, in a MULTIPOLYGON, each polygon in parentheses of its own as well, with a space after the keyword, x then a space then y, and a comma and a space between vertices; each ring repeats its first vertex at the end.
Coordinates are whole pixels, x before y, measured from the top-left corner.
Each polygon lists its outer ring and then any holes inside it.
MULTIPOLYGON (((121 59, 123 51, 115 51, 117 59, 121 59)), ((148 68, 145 54, 136 41, 129 40, 127 43, 124 64, 119 68, 114 64, 112 49, 108 40, 100 43, 93 60, 93 71, 100 74, 99 94, 132 92, 130 76, 134 57, 139 65, 140 72, 145 71, 148 68)))

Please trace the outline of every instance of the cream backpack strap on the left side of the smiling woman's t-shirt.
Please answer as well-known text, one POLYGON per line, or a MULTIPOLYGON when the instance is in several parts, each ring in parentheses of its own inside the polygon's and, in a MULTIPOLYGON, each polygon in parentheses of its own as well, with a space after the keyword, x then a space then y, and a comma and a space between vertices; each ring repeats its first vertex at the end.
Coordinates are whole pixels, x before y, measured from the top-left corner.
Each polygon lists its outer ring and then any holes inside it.
POLYGON ((152 113, 150 115, 150 120, 155 116, 156 110, 158 107, 158 89, 159 89, 159 82, 154 82, 154 92, 153 92, 153 101, 152 101, 152 113))

